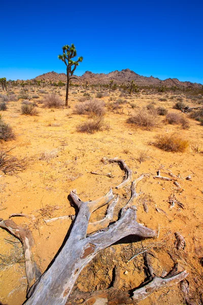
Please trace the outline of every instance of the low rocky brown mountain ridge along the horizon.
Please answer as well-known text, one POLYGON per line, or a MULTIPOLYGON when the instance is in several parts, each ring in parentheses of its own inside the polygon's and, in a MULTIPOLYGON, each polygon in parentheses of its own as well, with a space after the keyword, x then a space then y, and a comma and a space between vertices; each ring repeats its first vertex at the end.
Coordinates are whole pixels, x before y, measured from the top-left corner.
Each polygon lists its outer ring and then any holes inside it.
MULTIPOLYGON (((114 80, 117 84, 123 84, 129 81, 134 81, 138 86, 160 86, 164 85, 167 87, 177 86, 177 87, 191 87, 191 88, 201 88, 202 85, 198 83, 192 83, 189 81, 179 81, 177 78, 167 78, 165 80, 160 80, 153 76, 147 77, 142 76, 130 69, 123 69, 122 71, 113 71, 108 74, 105 73, 92 73, 86 71, 82 76, 77 76, 80 83, 88 84, 109 84, 110 80, 114 80)), ((42 74, 34 78, 36 80, 45 81, 66 81, 66 75, 64 73, 56 73, 54 71, 42 74)), ((74 82, 78 82, 76 79, 74 82)))

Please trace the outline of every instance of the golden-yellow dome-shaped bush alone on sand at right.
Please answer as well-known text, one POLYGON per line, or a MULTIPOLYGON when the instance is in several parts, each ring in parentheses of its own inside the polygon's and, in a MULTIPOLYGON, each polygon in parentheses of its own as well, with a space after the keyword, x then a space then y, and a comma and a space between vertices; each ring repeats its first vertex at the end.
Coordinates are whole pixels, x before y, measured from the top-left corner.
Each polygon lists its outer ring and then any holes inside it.
POLYGON ((189 141, 181 138, 176 134, 158 135, 154 143, 158 148, 165 151, 181 152, 189 146, 189 141))

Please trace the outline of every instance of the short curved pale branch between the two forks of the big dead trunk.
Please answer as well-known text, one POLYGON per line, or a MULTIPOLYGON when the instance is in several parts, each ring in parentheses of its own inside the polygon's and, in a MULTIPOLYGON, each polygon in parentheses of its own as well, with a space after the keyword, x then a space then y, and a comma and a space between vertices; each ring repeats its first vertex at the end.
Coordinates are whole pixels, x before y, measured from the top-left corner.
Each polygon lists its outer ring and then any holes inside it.
POLYGON ((109 204, 107 209, 107 215, 105 216, 104 219, 95 221, 93 223, 89 223, 87 228, 88 234, 108 227, 110 221, 113 219, 114 207, 118 203, 118 200, 119 200, 119 196, 115 200, 113 200, 112 203, 109 204))

